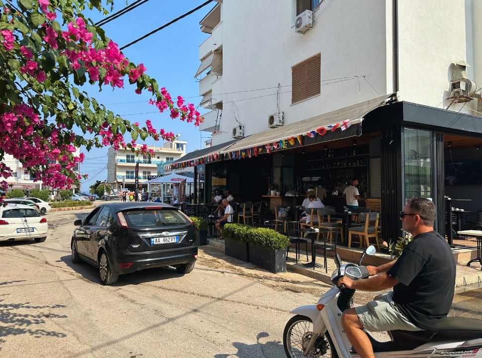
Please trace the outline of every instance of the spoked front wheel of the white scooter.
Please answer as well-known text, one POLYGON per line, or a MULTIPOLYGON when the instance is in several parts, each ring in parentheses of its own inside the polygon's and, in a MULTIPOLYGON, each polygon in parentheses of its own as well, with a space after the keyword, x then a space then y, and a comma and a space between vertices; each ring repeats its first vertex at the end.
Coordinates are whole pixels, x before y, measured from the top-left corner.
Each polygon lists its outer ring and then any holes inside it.
MULTIPOLYGON (((309 317, 296 315, 286 323, 283 332, 283 346, 286 357, 302 358, 303 351, 313 336, 313 322, 309 317)), ((338 358, 338 355, 331 343, 328 332, 320 335, 310 354, 309 358, 338 358)))

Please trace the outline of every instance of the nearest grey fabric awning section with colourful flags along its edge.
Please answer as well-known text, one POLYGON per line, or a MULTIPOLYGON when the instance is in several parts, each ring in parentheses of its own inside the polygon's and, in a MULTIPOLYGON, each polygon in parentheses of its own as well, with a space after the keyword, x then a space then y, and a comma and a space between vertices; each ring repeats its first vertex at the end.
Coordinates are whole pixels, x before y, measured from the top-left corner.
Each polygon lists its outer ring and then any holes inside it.
MULTIPOLYGON (((353 136, 353 131, 345 131, 354 124, 361 124, 363 116, 373 109, 385 104, 390 95, 373 98, 361 103, 357 103, 348 107, 337 109, 328 113, 324 113, 312 118, 304 119, 295 123, 287 124, 277 128, 271 128, 264 132, 252 134, 248 137, 241 138, 239 141, 221 151, 221 154, 238 152, 248 148, 265 146, 270 143, 286 144, 286 148, 291 146, 301 146, 335 140, 344 137, 353 136), (346 135, 337 133, 333 138, 333 132, 345 131, 346 135), (317 138, 318 137, 318 138, 317 138), (300 138, 300 139, 299 139, 300 138), (318 139, 317 141, 308 140, 309 143, 302 144, 305 139, 318 139), (288 142, 286 142, 288 140, 288 142)), ((355 134, 360 135, 361 133, 355 134)), ((285 147, 278 149, 286 149, 285 147)), ((267 149, 268 151, 274 148, 267 149)), ((276 150, 276 149, 275 149, 276 150)))

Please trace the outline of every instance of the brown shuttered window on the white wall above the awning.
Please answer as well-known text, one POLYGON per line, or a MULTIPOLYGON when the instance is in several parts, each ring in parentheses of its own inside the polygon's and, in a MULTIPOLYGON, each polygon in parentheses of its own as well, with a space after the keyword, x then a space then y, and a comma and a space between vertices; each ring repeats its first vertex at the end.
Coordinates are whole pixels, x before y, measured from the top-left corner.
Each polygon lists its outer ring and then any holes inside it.
POLYGON ((321 54, 310 57, 291 68, 291 103, 320 94, 321 54))

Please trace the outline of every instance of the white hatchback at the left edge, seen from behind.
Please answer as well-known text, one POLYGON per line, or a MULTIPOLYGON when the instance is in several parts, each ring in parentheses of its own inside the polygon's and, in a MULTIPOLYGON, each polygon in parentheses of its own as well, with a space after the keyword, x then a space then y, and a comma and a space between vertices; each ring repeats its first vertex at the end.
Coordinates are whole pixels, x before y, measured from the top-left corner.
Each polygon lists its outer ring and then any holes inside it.
POLYGON ((34 239, 36 242, 44 242, 47 232, 47 219, 31 206, 0 205, 0 241, 34 239))

